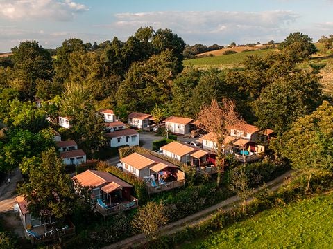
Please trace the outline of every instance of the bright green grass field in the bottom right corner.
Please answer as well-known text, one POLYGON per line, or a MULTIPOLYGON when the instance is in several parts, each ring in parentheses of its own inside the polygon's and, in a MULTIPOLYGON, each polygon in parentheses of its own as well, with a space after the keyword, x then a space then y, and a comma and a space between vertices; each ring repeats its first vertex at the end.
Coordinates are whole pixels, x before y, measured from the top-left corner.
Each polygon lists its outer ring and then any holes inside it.
POLYGON ((333 194, 268 210, 179 248, 332 248, 333 194))

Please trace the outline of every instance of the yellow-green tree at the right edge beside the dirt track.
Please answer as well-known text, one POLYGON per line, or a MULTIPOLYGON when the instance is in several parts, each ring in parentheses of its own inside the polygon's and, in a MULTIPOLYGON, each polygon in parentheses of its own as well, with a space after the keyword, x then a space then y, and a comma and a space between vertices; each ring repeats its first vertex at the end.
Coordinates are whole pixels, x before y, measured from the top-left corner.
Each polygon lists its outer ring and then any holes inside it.
POLYGON ((299 118, 273 147, 291 161, 293 169, 307 174, 307 190, 311 175, 333 169, 333 107, 324 101, 316 111, 299 118))

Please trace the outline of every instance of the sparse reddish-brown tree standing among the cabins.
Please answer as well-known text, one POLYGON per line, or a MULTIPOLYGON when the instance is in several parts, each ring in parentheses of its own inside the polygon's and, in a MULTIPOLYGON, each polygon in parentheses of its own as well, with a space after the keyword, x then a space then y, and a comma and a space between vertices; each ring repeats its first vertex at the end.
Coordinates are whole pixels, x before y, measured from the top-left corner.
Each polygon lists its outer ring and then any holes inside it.
POLYGON ((230 133, 230 126, 242 124, 242 120, 236 111, 234 102, 227 99, 223 99, 221 104, 216 100, 212 100, 209 106, 205 106, 200 110, 198 120, 205 131, 213 132, 217 138, 216 185, 219 186, 225 169, 225 154, 223 153, 225 136, 230 133))

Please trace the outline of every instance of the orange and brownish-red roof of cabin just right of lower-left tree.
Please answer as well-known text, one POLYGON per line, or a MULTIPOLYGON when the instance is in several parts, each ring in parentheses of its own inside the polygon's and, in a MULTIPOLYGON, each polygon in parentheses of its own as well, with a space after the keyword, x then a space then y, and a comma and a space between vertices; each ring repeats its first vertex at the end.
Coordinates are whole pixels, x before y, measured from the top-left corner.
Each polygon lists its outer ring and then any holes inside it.
MULTIPOLYGON (((126 183, 108 172, 100 172, 97 170, 88 169, 76 176, 73 176, 83 187, 99 187, 104 183, 117 183, 121 187, 132 187, 132 185, 126 183)), ((105 185, 106 186, 106 185, 105 185)))

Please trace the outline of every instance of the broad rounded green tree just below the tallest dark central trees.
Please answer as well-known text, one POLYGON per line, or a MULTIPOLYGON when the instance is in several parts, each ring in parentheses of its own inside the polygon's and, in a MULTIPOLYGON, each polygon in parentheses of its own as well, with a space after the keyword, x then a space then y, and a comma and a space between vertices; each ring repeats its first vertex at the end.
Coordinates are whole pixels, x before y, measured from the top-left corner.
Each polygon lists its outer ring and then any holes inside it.
POLYGON ((155 104, 171 100, 172 80, 177 75, 177 59, 170 50, 135 62, 117 92, 117 104, 128 111, 150 112, 155 104))

